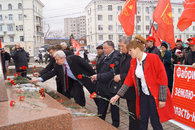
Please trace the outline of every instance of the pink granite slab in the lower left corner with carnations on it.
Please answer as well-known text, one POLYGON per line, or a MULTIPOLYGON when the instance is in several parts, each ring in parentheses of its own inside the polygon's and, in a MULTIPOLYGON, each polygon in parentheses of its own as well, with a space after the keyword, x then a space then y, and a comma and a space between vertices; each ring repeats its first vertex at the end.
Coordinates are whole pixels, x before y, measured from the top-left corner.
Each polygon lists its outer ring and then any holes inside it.
POLYGON ((31 110, 29 103, 19 102, 15 89, 7 89, 9 101, 0 102, 0 129, 41 129, 41 130, 72 130, 71 112, 53 98, 46 95, 40 98, 26 98, 26 101, 40 106, 40 110, 31 110), (10 100, 16 101, 11 107, 10 100), (22 106, 26 107, 23 108, 22 106))

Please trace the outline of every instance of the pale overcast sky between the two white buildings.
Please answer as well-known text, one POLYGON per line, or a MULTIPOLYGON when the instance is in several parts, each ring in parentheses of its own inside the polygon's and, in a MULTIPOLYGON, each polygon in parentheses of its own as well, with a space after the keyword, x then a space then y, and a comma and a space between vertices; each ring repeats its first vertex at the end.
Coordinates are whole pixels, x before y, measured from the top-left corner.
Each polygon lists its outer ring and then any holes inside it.
POLYGON ((66 17, 84 15, 85 7, 91 0, 41 0, 44 22, 50 25, 51 30, 64 30, 66 17))

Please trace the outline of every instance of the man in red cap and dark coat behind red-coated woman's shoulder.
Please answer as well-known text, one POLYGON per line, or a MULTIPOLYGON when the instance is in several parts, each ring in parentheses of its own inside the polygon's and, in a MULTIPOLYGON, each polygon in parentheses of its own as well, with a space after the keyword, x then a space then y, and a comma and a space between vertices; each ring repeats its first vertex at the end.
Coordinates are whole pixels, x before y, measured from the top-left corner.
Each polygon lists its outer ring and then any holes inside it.
POLYGON ((148 38, 146 39, 146 50, 145 50, 145 52, 157 54, 159 56, 159 58, 162 60, 160 50, 155 46, 155 41, 156 40, 155 40, 154 37, 148 36, 148 38))

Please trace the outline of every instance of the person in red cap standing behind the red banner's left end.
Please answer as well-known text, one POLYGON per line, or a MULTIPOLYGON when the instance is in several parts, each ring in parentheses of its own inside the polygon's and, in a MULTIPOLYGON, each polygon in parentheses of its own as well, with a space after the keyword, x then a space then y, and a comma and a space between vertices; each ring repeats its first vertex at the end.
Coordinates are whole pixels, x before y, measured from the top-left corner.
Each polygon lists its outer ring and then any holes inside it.
POLYGON ((184 47, 182 46, 182 40, 177 39, 175 48, 171 50, 171 62, 173 64, 181 64, 183 61, 183 53, 184 47))

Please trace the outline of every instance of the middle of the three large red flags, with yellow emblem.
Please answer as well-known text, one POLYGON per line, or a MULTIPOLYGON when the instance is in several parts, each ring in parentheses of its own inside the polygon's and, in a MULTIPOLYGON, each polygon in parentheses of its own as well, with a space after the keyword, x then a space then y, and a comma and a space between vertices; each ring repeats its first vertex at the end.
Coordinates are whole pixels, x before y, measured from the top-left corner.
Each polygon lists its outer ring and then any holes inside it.
POLYGON ((168 42, 171 49, 173 49, 175 47, 175 38, 170 0, 159 0, 154 10, 153 19, 158 24, 157 35, 159 38, 168 42))

